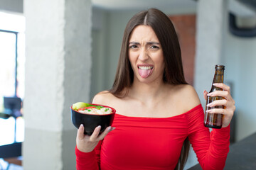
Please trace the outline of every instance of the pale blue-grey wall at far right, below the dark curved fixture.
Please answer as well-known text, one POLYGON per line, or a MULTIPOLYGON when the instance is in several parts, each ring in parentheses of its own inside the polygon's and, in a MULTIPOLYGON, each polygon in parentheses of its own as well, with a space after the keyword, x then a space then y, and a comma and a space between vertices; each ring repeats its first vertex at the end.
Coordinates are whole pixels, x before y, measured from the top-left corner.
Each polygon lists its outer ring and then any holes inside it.
POLYGON ((256 38, 238 38, 225 31, 225 81, 232 84, 235 99, 236 140, 256 132, 256 38))

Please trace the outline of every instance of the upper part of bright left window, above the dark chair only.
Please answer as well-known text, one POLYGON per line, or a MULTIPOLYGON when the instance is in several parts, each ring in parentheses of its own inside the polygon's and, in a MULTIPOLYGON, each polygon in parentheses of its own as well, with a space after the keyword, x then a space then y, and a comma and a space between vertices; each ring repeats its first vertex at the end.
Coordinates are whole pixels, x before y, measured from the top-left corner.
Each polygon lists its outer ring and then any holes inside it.
POLYGON ((0 12, 0 111, 3 96, 24 97, 25 19, 0 12))

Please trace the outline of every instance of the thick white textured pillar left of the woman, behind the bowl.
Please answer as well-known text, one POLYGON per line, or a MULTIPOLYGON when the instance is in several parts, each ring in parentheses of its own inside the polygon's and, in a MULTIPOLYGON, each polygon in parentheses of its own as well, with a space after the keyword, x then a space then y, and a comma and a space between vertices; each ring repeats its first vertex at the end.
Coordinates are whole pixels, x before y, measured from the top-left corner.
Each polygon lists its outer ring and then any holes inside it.
POLYGON ((23 169, 75 169, 70 106, 90 94, 91 2, 26 0, 24 7, 23 169))

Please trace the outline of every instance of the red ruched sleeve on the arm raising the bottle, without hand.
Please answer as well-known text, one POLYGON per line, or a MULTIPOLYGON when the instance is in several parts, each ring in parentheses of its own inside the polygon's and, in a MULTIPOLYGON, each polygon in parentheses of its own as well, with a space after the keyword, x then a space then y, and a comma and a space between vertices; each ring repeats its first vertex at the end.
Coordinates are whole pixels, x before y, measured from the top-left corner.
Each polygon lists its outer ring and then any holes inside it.
POLYGON ((209 132, 203 118, 202 107, 188 118, 188 139, 202 169, 223 169, 229 151, 230 126, 209 132))

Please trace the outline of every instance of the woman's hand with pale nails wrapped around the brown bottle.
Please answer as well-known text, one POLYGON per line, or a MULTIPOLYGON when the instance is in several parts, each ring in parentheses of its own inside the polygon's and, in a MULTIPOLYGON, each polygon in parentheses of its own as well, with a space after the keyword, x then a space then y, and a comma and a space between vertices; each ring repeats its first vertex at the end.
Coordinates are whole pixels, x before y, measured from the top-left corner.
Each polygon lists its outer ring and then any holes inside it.
POLYGON ((223 114, 223 128, 227 127, 234 115, 235 111, 235 101, 233 100, 232 96, 230 95, 230 87, 225 84, 213 84, 214 86, 217 86, 223 91, 213 91, 208 94, 207 91, 203 91, 204 98, 207 98, 207 96, 221 96, 224 99, 213 101, 212 103, 209 103, 209 107, 213 106, 225 106, 224 108, 213 108, 208 110, 208 113, 219 113, 223 114))

